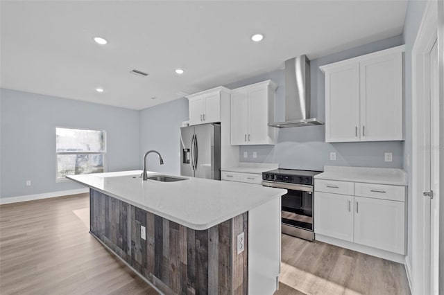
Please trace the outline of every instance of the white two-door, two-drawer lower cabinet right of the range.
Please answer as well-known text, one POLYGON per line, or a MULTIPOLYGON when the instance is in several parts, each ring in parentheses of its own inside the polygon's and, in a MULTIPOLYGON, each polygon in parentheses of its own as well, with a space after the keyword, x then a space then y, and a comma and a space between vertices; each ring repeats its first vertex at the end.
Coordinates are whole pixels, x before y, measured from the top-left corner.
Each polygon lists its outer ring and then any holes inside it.
POLYGON ((316 179, 314 190, 316 234, 405 254, 404 186, 316 179), (331 193, 352 185, 348 195, 331 193))

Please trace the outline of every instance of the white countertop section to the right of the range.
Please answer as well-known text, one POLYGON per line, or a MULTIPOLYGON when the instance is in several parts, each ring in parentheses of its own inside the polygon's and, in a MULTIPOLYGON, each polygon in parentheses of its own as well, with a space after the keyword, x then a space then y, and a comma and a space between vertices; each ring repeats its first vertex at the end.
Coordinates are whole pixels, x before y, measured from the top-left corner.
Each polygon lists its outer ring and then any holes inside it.
POLYGON ((324 172, 314 178, 407 186, 407 173, 394 168, 324 166, 324 172))

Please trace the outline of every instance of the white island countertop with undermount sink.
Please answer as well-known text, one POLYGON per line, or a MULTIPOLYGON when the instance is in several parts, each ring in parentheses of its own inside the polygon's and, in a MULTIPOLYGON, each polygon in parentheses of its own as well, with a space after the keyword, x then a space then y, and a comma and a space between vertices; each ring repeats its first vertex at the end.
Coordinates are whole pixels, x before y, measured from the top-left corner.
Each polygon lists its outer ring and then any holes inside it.
MULTIPOLYGON (((209 229, 287 193, 280 188, 194 177, 174 182, 143 181, 141 173, 135 170, 67 178, 195 230, 209 229)), ((163 174, 148 172, 148 176, 153 175, 163 174)))

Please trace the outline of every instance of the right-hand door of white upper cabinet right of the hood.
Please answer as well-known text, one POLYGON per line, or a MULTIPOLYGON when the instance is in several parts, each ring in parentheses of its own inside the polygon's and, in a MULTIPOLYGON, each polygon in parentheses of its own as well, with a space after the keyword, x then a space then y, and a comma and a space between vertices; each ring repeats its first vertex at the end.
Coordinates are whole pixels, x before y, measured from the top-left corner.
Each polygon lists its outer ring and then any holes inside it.
POLYGON ((361 141, 404 139, 402 53, 361 62, 361 141))

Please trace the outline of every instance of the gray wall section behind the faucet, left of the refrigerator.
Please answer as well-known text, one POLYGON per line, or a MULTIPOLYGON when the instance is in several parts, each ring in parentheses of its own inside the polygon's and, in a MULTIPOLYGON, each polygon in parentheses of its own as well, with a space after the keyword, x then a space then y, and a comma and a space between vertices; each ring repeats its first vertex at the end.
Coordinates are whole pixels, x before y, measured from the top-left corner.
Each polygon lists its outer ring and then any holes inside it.
POLYGON ((145 152, 157 150, 164 165, 159 165, 157 155, 149 154, 148 170, 180 175, 180 127, 185 120, 188 120, 187 98, 139 111, 140 168, 144 167, 145 152))

